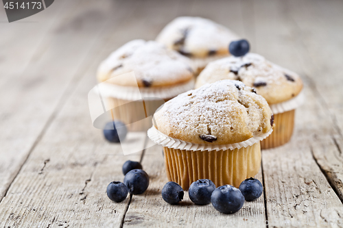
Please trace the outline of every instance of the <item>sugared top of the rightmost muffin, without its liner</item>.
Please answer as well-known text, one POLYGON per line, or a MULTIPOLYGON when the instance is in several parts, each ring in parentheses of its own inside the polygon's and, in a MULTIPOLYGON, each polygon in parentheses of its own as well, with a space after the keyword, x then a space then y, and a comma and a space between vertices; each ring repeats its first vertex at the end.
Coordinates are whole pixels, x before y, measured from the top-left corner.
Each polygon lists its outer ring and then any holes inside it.
POLYGON ((230 56, 209 63, 198 76, 196 88, 222 79, 242 81, 255 88, 257 94, 269 104, 292 99, 303 88, 303 82, 296 73, 255 53, 243 57, 230 56))

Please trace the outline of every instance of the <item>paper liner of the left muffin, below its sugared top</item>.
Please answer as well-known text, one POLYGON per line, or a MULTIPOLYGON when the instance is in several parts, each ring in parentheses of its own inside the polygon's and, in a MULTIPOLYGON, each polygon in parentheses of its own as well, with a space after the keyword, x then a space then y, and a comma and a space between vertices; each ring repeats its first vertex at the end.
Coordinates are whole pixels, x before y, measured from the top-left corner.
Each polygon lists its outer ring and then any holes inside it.
POLYGON ((106 107, 111 107, 113 119, 128 125, 129 131, 147 131, 158 107, 182 92, 193 89, 194 79, 178 86, 163 88, 134 88, 102 83, 101 94, 106 107))

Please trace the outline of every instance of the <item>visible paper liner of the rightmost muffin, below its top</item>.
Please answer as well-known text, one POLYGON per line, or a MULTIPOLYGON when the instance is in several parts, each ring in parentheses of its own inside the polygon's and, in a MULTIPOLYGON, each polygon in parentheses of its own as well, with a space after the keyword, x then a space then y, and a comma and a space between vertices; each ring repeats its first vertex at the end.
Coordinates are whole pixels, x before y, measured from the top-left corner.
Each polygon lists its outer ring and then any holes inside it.
POLYGON ((274 114, 274 131, 268 138, 261 141, 261 149, 279 147, 292 138, 295 109, 303 103, 303 100, 304 94, 300 92, 293 99, 270 105, 274 114))

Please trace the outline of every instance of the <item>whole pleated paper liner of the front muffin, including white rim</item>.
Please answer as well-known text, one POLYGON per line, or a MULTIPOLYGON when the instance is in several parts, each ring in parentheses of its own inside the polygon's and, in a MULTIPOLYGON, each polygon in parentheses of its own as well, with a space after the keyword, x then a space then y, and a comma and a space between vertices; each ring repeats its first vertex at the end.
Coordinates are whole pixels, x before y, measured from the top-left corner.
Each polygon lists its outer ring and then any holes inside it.
POLYGON ((147 131, 152 141, 163 145, 169 181, 175 181, 184 190, 198 179, 211 179, 217 187, 230 184, 238 188, 241 181, 259 172, 259 142, 271 133, 272 130, 235 144, 215 145, 177 140, 165 136, 155 127, 147 131))

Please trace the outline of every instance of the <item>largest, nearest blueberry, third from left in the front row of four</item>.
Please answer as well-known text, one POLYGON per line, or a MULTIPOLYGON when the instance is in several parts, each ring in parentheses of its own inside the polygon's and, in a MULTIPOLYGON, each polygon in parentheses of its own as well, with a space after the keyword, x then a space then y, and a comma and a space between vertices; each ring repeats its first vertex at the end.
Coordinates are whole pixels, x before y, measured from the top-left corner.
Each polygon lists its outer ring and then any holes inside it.
POLYGON ((244 196, 238 188, 220 186, 212 192, 211 203, 216 210, 231 214, 237 212, 244 204, 244 196))

